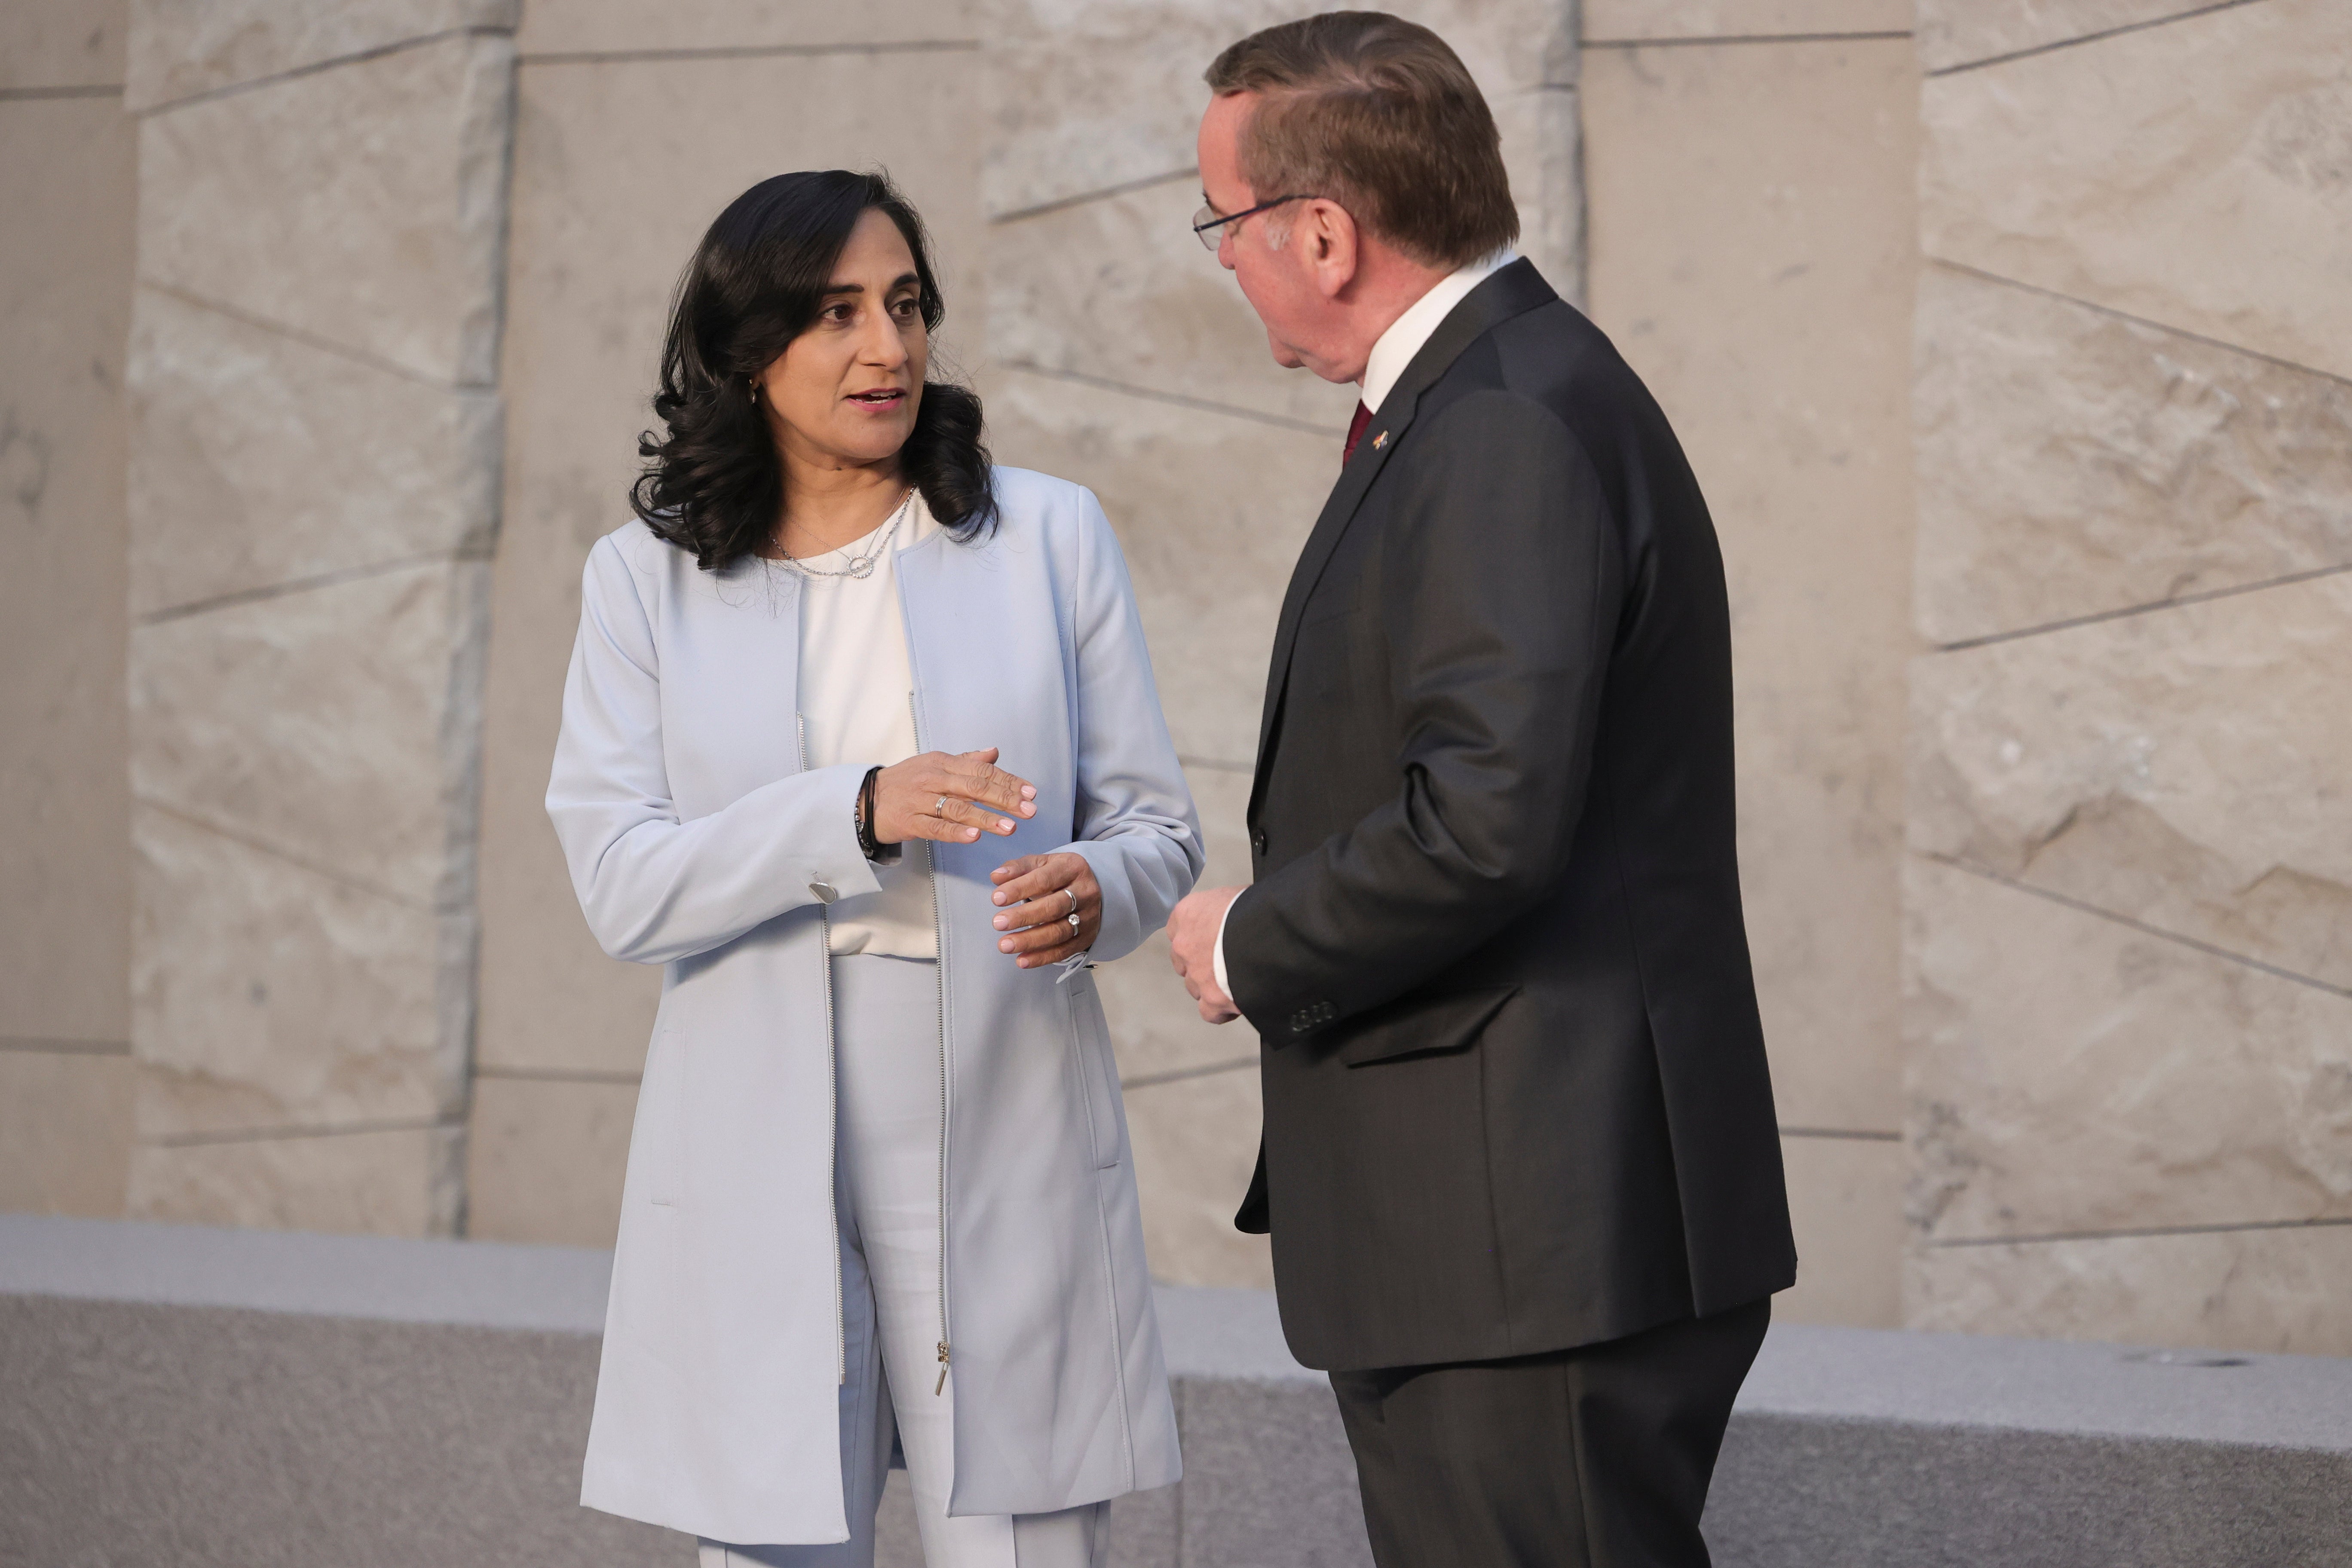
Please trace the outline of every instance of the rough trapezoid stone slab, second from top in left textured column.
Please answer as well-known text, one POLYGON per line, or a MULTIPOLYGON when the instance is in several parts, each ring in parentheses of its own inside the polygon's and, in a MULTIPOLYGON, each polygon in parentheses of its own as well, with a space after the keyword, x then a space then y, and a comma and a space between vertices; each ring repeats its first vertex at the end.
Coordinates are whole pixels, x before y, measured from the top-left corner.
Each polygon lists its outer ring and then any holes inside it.
POLYGON ((513 56, 466 33, 151 115, 141 275, 430 383, 487 386, 513 56))

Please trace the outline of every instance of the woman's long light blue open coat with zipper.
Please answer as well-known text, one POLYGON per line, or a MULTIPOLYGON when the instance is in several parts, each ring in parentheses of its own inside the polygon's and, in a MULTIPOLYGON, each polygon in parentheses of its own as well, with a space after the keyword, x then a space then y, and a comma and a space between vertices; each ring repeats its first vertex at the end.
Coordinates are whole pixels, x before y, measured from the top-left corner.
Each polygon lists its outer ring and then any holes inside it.
MULTIPOLYGON (((988 872, 1070 849, 1117 959, 1202 867, 1127 564, 1077 484, 995 470, 1002 524, 901 552, 924 750, 1002 748, 1011 839, 936 844, 955 1514, 1167 1486, 1117 1067, 1082 966, 995 947, 988 872)), ((604 952, 666 964, 628 1147, 581 1502, 743 1542, 847 1540, 823 903, 873 891, 866 764, 807 771, 800 578, 644 524, 588 555, 548 816, 604 952)))

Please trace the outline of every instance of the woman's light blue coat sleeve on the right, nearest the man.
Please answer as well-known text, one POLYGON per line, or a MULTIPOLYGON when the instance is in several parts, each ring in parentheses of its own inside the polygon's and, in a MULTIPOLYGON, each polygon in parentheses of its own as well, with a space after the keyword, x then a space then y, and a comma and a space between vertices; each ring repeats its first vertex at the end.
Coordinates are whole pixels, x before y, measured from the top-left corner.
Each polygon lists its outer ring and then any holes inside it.
POLYGON ((1089 957, 1127 957, 1167 924, 1207 860, 1192 790, 1160 712, 1143 618, 1120 538, 1094 491, 1082 491, 1077 585, 1077 839, 1103 886, 1103 926, 1089 957))

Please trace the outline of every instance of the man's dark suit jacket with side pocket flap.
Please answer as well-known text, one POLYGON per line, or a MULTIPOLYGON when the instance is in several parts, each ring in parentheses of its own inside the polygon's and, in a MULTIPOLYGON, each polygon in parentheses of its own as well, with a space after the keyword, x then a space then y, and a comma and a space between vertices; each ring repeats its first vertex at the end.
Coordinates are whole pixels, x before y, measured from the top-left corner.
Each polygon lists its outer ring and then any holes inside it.
POLYGON ((1225 971, 1237 1215, 1308 1366, 1486 1361, 1795 1279, 1698 482, 1536 268, 1383 400, 1275 635, 1225 971))

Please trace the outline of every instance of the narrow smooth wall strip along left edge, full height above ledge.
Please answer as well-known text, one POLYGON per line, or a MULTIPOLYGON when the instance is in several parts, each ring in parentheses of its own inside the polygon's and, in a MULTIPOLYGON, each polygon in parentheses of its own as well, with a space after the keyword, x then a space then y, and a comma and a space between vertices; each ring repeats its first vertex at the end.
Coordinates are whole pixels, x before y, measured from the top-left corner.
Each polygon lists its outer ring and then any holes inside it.
POLYGON ((129 1152, 122 5, 0 7, 0 1208, 111 1215, 129 1152))

